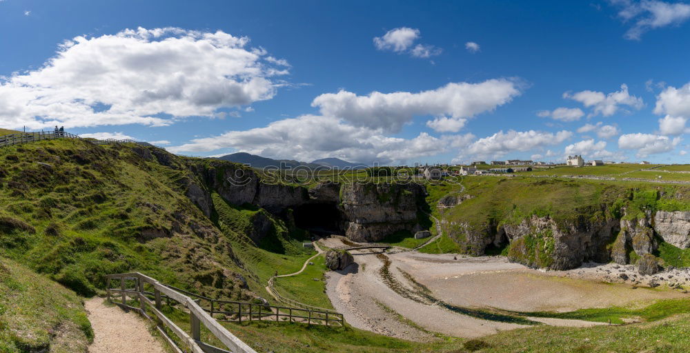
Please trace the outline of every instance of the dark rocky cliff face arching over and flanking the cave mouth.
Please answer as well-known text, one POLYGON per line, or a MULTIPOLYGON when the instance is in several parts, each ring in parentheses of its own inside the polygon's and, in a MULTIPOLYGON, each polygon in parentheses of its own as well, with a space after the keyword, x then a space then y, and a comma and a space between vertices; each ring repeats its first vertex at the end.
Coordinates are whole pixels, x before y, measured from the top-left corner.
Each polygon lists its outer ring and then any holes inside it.
MULTIPOLYGON (((223 161, 195 165, 190 170, 205 187, 187 180, 183 183, 186 195, 207 215, 213 213, 210 192, 215 191, 230 204, 252 204, 284 217, 289 209, 307 204, 337 208, 342 232, 354 241, 379 241, 400 230, 420 230, 418 203, 426 189, 416 183, 319 183, 308 189, 264 183, 253 170, 223 161)), ((251 237, 258 241, 262 234, 251 237)))

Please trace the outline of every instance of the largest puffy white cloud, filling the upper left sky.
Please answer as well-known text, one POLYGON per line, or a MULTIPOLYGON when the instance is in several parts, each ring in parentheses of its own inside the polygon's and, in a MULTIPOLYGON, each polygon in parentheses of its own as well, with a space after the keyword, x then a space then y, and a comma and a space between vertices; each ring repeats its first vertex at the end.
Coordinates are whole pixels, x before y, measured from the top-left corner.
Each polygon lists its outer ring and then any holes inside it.
POLYGON ((181 28, 75 37, 41 68, 0 81, 0 121, 34 129, 168 125, 270 99, 279 85, 273 77, 288 72, 247 44, 181 28))

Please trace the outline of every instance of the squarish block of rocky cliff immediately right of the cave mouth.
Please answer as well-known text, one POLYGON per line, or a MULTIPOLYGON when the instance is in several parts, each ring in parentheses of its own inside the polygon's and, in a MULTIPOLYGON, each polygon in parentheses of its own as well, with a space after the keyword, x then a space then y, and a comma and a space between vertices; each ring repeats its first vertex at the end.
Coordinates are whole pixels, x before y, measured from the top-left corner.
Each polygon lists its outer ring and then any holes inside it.
POLYGON ((345 235, 354 241, 380 241, 400 230, 420 230, 417 201, 425 192, 416 183, 342 185, 340 205, 345 235))

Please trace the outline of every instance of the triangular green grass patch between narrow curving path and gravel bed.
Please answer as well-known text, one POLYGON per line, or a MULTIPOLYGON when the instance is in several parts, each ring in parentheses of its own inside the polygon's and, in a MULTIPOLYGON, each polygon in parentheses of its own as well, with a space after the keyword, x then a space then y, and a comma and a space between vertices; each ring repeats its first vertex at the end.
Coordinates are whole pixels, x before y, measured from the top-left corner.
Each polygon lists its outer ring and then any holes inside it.
POLYGON ((275 288, 283 296, 300 303, 333 309, 331 300, 326 295, 326 258, 319 255, 312 262, 314 264, 307 265, 301 274, 275 279, 275 288))

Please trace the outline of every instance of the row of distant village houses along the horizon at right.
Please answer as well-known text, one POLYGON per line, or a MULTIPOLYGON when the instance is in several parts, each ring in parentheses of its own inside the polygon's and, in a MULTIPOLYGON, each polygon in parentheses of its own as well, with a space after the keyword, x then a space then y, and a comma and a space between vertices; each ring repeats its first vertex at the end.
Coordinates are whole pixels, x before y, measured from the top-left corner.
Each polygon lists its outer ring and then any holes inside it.
MULTIPOLYGON (((428 180, 438 180, 452 175, 491 175, 491 174, 514 174, 520 172, 532 172, 542 168, 553 168, 557 166, 586 167, 598 165, 621 164, 624 162, 602 161, 594 159, 584 161, 581 155, 568 156, 564 163, 542 162, 542 161, 523 161, 521 159, 508 159, 506 161, 473 161, 469 165, 415 165, 416 176, 428 180), (493 166, 493 168, 491 168, 493 166)), ((642 161, 640 164, 649 164, 642 161)))

